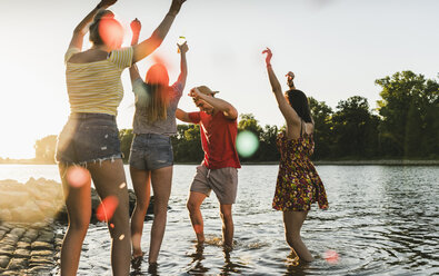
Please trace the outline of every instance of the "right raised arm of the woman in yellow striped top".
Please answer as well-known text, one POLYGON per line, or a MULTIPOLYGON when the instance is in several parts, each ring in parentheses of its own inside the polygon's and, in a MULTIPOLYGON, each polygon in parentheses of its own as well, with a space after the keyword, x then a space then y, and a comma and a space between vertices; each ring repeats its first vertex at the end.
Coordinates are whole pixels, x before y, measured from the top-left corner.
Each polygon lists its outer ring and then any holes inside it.
POLYGON ((136 63, 137 61, 153 52, 161 45, 161 42, 163 42, 164 37, 168 34, 168 31, 171 28, 172 22, 184 1, 186 0, 172 0, 168 13, 159 27, 157 27, 157 29, 152 32, 151 37, 133 47, 134 55, 132 57, 132 63, 136 63))

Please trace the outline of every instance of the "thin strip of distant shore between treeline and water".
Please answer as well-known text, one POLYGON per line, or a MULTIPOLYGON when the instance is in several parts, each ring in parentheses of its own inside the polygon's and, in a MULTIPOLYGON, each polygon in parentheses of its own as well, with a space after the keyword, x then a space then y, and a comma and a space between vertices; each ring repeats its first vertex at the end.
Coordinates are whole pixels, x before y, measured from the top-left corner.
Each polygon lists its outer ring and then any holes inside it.
MULTIPOLYGON (((340 165, 340 166, 439 166, 439 159, 416 160, 416 159, 377 159, 377 160, 313 160, 315 165, 340 165)), ((0 165, 56 165, 54 162, 42 162, 34 159, 0 159, 0 165)), ((176 165, 198 165, 199 162, 176 162, 176 165)), ((279 161, 241 161, 242 165, 278 165, 279 161)))

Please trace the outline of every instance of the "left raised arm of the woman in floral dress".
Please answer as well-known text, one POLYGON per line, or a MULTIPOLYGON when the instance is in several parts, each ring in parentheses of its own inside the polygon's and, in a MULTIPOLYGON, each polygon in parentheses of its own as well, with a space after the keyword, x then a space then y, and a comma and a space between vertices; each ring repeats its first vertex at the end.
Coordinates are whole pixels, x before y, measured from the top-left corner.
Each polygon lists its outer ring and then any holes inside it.
POLYGON ((287 99, 283 97, 282 93, 282 88, 280 87, 279 80, 275 75, 275 71, 271 67, 271 50, 267 48, 266 50, 262 51, 262 53, 267 53, 266 57, 266 63, 267 63, 267 72, 268 72, 268 78, 270 80, 271 89, 275 93, 276 100, 278 101, 278 106, 280 111, 283 115, 283 118, 287 121, 287 125, 298 125, 300 124, 300 118, 295 111, 295 109, 290 106, 290 103, 287 101, 287 99))

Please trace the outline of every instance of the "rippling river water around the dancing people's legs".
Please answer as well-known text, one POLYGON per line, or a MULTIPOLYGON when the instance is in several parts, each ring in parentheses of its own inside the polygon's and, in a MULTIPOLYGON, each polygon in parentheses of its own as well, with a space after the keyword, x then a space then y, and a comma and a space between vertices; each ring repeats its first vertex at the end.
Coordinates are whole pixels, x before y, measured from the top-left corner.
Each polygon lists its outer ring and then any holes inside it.
MULTIPOLYGON (((298 266, 289 257, 282 215, 271 209, 277 166, 239 170, 236 246, 230 254, 220 246, 221 220, 213 194, 202 205, 207 243, 203 248, 196 246, 186 209, 194 168, 174 166, 167 231, 152 274, 439 275, 438 166, 318 166, 329 209, 316 205, 309 213, 302 239, 316 260, 298 266), (328 253, 337 253, 338 258, 326 258, 328 253)), ((0 180, 26 181, 30 176, 59 181, 56 166, 0 166, 0 180)), ((143 250, 148 250, 150 226, 147 221, 143 250)), ((150 273, 144 262, 132 275, 150 273)), ((78 275, 111 275, 103 224, 90 226, 78 275)))

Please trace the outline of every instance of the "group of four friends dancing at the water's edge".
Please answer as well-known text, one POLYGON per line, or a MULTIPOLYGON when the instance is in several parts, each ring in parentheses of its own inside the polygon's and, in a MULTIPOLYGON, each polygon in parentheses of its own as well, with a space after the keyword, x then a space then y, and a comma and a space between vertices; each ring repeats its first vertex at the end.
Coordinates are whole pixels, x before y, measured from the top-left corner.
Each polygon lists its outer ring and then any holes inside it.
MULTIPOLYGON (((123 29, 108 10, 116 1, 101 0, 86 16, 74 29, 64 56, 71 114, 58 137, 56 155, 69 215, 61 248, 61 275, 76 275, 78 270, 91 216, 91 180, 102 201, 111 197, 117 203, 107 219, 112 240, 113 275, 128 275, 131 264, 138 265, 143 259, 141 236, 152 186, 154 219, 148 263, 157 264, 171 193, 173 155, 170 137, 177 132, 176 118, 200 125, 204 158, 197 167, 187 203, 197 240, 200 245, 204 241, 200 206, 213 190, 220 205, 223 246, 227 250, 233 247, 232 205, 238 191, 238 168, 241 167, 236 148, 237 109, 207 86, 189 91, 199 111, 187 112, 178 108, 188 75, 187 42, 178 45, 180 75, 171 86, 164 66, 151 66, 144 80, 136 66, 162 43, 186 0, 172 0, 169 12, 146 40, 139 41, 141 23, 134 19, 131 22, 131 47, 124 48, 120 34, 123 29), (92 46, 82 50, 87 32, 92 46), (116 124, 117 108, 123 96, 121 73, 126 68, 129 68, 136 96, 134 137, 129 164, 137 200, 131 219, 116 124), (72 171, 78 167, 89 176, 83 185, 74 185, 77 179, 72 171)), ((313 258, 300 238, 300 229, 312 203, 317 201, 322 209, 328 208, 323 184, 309 159, 313 151, 315 125, 307 96, 295 87, 295 75, 287 73, 289 90, 283 93, 271 67, 272 52, 267 48, 263 53, 272 91, 286 119, 286 130, 277 139, 281 159, 272 207, 283 213, 286 239, 291 249, 298 258, 310 262, 313 258)))

